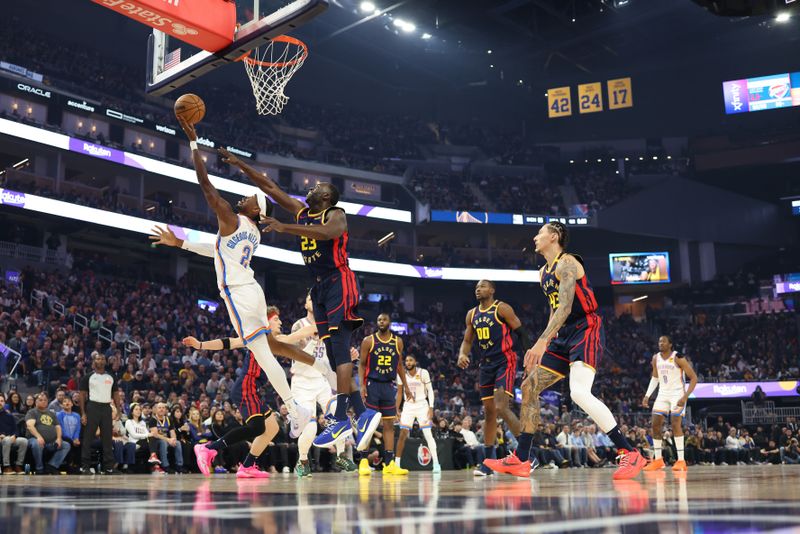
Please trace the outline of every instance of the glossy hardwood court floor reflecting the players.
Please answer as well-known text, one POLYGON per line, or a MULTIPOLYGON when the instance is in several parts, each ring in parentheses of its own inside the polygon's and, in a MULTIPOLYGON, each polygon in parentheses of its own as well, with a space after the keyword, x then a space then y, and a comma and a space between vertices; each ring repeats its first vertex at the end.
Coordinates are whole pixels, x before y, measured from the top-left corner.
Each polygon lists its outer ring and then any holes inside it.
POLYGON ((612 473, 0 476, 0 532, 800 532, 800 466, 612 473))

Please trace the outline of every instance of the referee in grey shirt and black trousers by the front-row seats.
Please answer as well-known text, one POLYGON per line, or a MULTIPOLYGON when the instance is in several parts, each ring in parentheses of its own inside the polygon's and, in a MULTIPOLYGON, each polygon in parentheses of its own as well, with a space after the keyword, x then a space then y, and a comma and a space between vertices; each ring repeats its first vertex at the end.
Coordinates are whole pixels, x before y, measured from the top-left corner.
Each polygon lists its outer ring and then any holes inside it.
POLYGON ((116 472, 114 471, 111 398, 117 392, 117 384, 114 377, 106 373, 106 357, 99 352, 92 354, 92 369, 94 372, 84 376, 80 386, 81 424, 85 426, 83 448, 81 449, 81 474, 91 474, 89 465, 92 458, 92 442, 97 428, 100 427, 100 442, 103 445, 103 472, 113 475, 116 472))

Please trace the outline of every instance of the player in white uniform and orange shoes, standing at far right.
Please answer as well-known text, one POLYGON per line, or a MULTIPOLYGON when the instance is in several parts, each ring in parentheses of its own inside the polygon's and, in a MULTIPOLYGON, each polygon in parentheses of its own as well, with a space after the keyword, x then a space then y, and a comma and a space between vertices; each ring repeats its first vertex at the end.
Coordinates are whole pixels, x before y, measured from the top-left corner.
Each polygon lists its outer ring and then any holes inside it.
POLYGON ((672 433, 675 436, 675 448, 678 452, 678 461, 672 466, 673 471, 686 471, 686 462, 683 459, 683 415, 686 413, 686 401, 689 399, 695 386, 697 375, 692 369, 692 364, 685 356, 672 350, 672 340, 669 336, 658 338, 659 352, 653 354, 653 375, 650 385, 642 399, 642 406, 647 408, 650 396, 658 388, 658 396, 653 403, 653 451, 654 459, 645 471, 658 471, 664 468, 664 459, 661 457, 661 437, 664 418, 670 417, 672 433), (686 387, 686 377, 689 377, 689 387, 686 387))

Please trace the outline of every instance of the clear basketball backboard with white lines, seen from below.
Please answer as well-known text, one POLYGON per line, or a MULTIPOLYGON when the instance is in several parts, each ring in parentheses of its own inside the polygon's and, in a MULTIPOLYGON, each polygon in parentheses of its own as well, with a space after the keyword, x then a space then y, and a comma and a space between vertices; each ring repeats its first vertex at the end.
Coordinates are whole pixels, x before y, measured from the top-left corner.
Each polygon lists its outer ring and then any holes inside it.
POLYGON ((328 0, 237 0, 233 43, 216 52, 194 48, 154 29, 147 46, 146 91, 154 95, 167 94, 218 67, 237 61, 273 37, 290 33, 327 7, 328 0))

